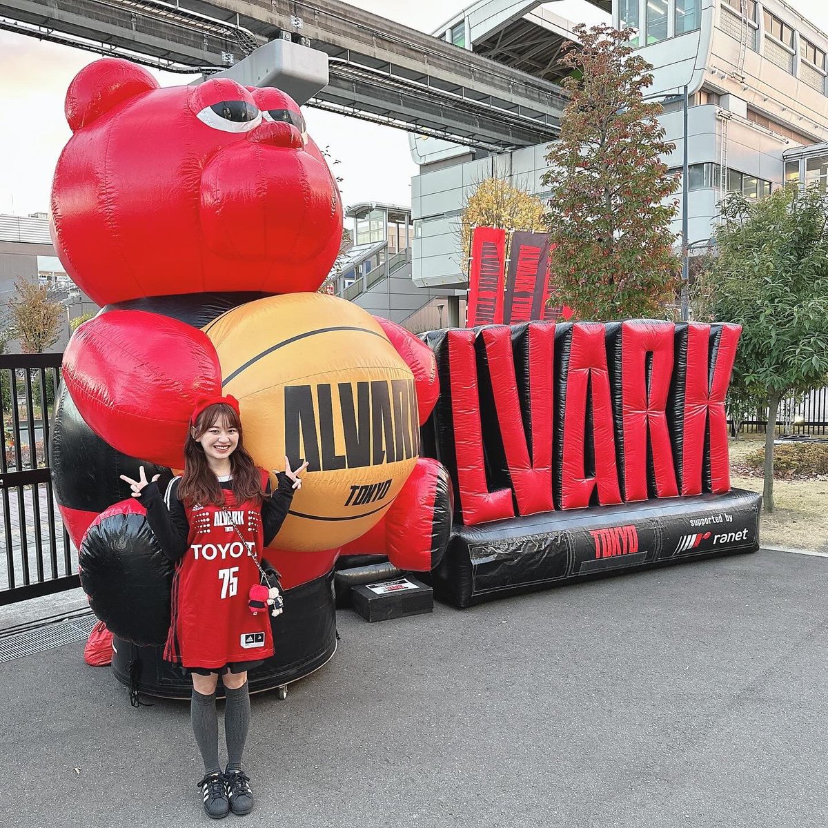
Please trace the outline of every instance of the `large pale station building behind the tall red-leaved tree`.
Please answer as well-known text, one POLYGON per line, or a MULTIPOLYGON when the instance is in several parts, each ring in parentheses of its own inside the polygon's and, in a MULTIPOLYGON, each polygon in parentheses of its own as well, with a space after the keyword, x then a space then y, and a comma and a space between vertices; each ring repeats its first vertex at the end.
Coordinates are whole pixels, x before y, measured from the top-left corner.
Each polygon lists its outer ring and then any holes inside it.
MULTIPOLYGON (((605 22, 638 30, 638 52, 654 67, 647 94, 664 96, 661 120, 667 140, 676 144, 666 161, 676 171, 684 153, 687 88, 691 248, 714 234, 716 203, 729 190, 749 198, 767 195, 794 175, 794 166, 802 167, 803 181, 826 180, 825 148, 800 164, 801 151, 794 147, 828 138, 828 36, 786 2, 595 0, 590 6, 605 12, 605 22)), ((554 7, 532 0, 479 0, 434 34, 551 79, 554 55, 572 26, 552 13, 554 7)), ((412 156, 420 165, 412 181, 417 285, 465 285, 456 224, 478 181, 509 176, 548 197, 540 181, 545 145, 481 157, 468 147, 418 137, 412 139, 412 156)), ((673 230, 680 244, 681 213, 673 230)))

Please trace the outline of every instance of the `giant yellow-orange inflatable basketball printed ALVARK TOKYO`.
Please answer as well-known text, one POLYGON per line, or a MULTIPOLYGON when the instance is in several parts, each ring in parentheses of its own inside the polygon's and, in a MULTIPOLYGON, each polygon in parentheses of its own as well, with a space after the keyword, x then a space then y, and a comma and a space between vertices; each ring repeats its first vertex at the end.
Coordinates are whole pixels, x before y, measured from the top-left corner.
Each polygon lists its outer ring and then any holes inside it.
POLYGON ((335 296, 297 293, 248 302, 204 330, 256 462, 308 462, 273 546, 332 549, 367 532, 420 448, 414 376, 377 321, 335 296))

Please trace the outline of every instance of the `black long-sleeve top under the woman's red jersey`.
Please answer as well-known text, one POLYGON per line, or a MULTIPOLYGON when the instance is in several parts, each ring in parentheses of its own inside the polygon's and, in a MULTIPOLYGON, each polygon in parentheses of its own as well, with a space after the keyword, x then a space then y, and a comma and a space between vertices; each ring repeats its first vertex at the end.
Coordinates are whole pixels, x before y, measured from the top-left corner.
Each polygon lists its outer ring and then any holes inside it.
MULTIPOLYGON (((279 487, 271 494, 270 480, 267 481, 265 497, 262 498, 262 530, 264 545, 267 546, 276 537, 291 508, 293 499, 293 483, 284 473, 277 474, 279 487)), ((184 503, 178 498, 178 484, 180 477, 174 477, 166 487, 164 496, 158 484, 147 484, 139 498, 141 505, 147 509, 147 522, 155 535, 161 551, 173 562, 181 561, 188 549, 187 538, 190 536, 190 522, 184 509, 184 503)), ((231 489, 233 486, 230 477, 219 477, 222 489, 231 489)))

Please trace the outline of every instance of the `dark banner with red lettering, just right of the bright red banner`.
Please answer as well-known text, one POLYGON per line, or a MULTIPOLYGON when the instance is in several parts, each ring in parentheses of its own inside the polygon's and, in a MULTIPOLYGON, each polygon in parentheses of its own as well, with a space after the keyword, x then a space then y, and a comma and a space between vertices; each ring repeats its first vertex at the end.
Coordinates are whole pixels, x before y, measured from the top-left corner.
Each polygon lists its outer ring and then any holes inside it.
POLYGON ((503 322, 541 320, 549 298, 549 233, 512 233, 503 322))

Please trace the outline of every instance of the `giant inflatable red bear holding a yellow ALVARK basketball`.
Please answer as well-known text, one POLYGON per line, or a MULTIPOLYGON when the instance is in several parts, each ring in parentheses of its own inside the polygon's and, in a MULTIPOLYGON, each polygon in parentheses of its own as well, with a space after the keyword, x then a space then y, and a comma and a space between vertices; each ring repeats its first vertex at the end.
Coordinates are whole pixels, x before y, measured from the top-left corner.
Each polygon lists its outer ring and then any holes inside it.
POLYGON ((52 190, 67 272, 103 310, 65 352, 51 465, 94 609, 129 647, 143 690, 184 696, 152 655, 169 567, 119 474, 163 484, 183 464, 205 393, 238 397, 258 465, 309 461, 267 551, 286 612, 253 689, 319 667, 335 648, 331 572, 370 535, 405 570, 450 536, 450 482, 419 457, 434 356, 398 325, 315 291, 339 251, 342 205, 296 103, 229 79, 161 89, 125 60, 82 70, 52 190), (137 647, 137 645, 142 645, 137 647))

